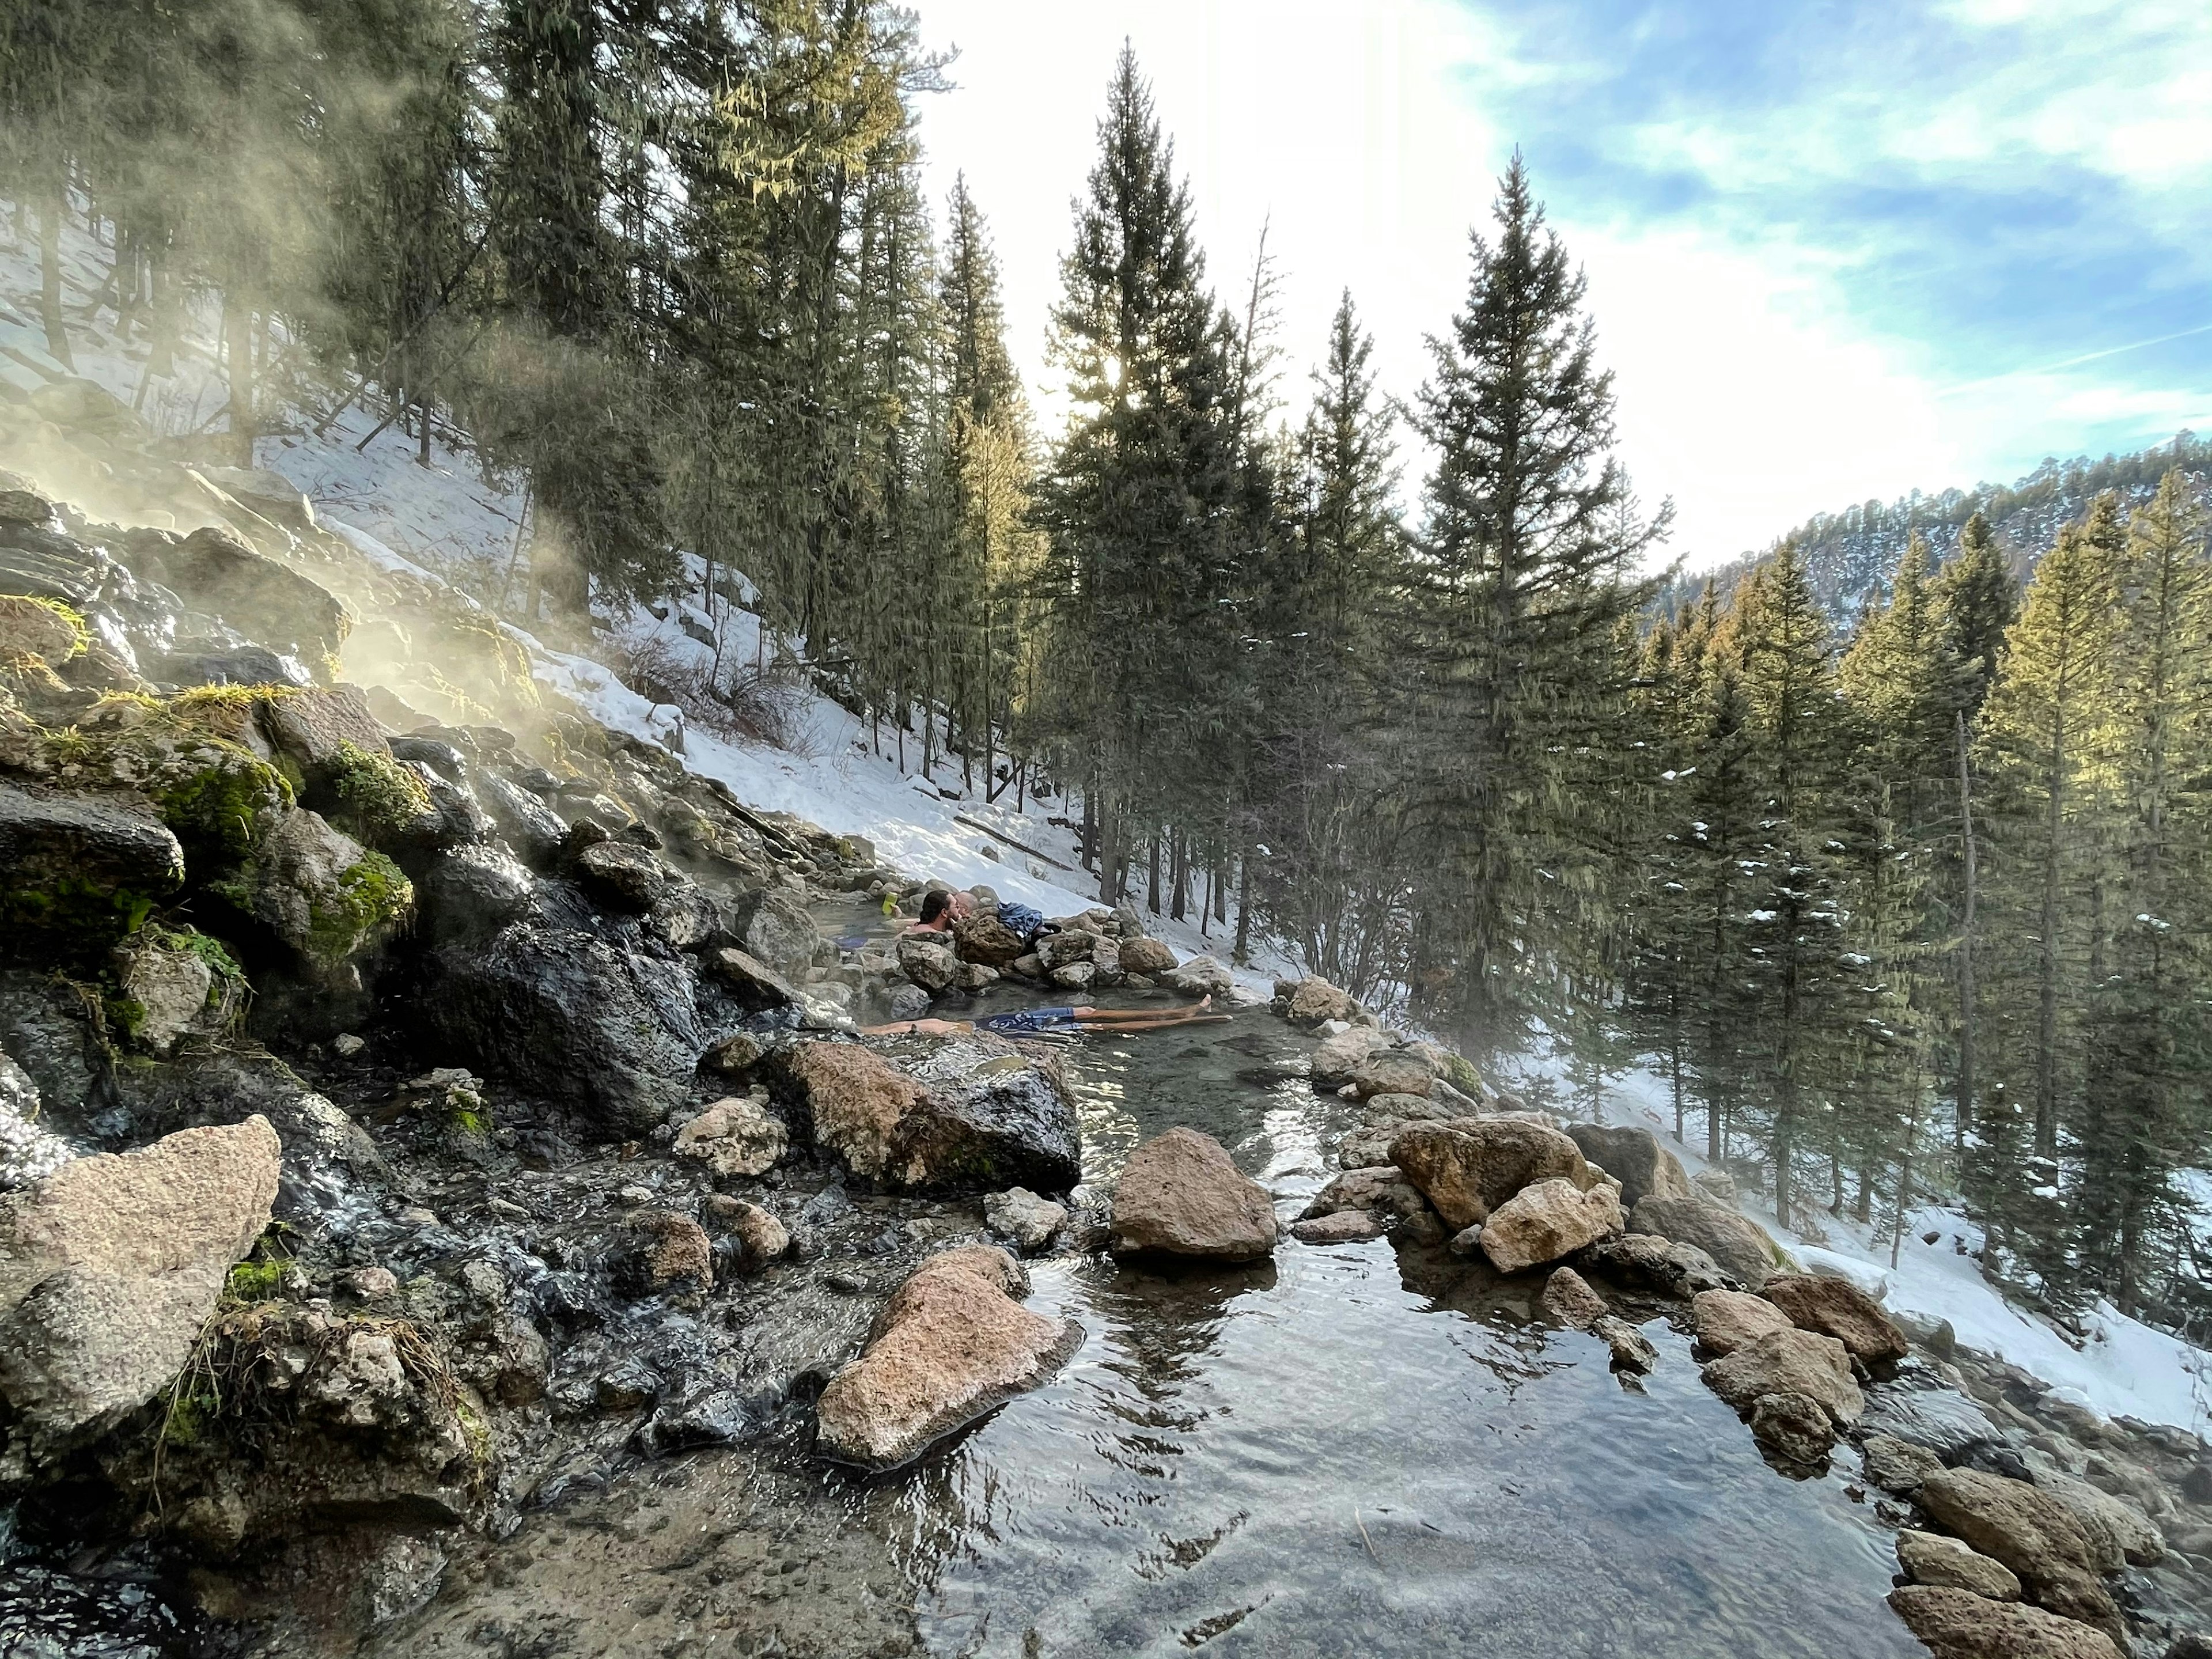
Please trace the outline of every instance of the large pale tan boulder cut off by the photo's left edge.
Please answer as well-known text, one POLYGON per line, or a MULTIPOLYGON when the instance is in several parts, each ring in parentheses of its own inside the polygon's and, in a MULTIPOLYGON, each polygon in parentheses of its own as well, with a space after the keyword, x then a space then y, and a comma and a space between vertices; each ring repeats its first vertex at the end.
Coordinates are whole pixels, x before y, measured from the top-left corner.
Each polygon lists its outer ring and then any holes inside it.
POLYGON ((184 1369, 276 1201, 265 1117, 95 1155, 0 1203, 0 1484, 113 1427, 184 1369))

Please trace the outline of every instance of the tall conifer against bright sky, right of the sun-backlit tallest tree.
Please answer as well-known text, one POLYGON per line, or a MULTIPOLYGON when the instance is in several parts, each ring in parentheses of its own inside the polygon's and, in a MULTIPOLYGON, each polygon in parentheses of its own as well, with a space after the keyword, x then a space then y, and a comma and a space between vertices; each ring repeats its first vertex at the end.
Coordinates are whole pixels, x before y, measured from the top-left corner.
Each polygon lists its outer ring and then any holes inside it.
POLYGON ((1584 927, 1595 858, 1577 845, 1559 757, 1619 688, 1588 672, 1637 602, 1626 571, 1657 526, 1624 526, 1613 380, 1584 283, 1515 155, 1498 239, 1473 239, 1464 310, 1431 341, 1418 425, 1422 491, 1413 812, 1416 998, 1484 1053, 1517 1048, 1557 1006, 1553 951, 1584 927))

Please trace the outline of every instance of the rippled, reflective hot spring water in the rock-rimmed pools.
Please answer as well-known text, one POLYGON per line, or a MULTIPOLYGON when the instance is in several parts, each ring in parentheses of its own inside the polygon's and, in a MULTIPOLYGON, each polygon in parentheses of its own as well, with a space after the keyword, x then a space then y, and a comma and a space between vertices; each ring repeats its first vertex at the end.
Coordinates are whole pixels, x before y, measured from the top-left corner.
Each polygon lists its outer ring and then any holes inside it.
MULTIPOLYGON (((1192 1124, 1296 1214, 1345 1115, 1305 1051, 1267 1013, 1066 1042, 1086 1172, 1192 1124)), ((1066 1371, 847 1491, 889 1506, 933 1652, 1922 1652, 1882 1606, 1887 1528, 1843 1478, 1767 1469, 1663 1321, 1624 1387, 1531 1323, 1535 1283, 1387 1241, 1033 1281, 1086 1329, 1066 1371)))

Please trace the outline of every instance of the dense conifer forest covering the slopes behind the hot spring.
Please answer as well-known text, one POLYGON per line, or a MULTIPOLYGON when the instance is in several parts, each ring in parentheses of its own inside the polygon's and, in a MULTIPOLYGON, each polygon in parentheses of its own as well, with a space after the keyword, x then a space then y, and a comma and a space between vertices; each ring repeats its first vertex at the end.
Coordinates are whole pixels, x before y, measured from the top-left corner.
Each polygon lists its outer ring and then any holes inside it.
POLYGON ((995 204, 922 184, 949 73, 887 0, 13 0, 0 192, 58 358, 71 226, 148 380, 219 314, 239 465, 343 398, 524 480, 478 597, 546 639, 743 595, 785 659, 708 695, 1064 803, 1102 902, 1551 1044, 1559 1108, 1650 1066, 1785 1225, 1955 1190, 2020 1296, 2208 1329, 2201 440, 1686 566, 1540 166, 1383 385, 1358 294, 1292 341, 1208 263, 1133 51, 1046 422, 995 204))

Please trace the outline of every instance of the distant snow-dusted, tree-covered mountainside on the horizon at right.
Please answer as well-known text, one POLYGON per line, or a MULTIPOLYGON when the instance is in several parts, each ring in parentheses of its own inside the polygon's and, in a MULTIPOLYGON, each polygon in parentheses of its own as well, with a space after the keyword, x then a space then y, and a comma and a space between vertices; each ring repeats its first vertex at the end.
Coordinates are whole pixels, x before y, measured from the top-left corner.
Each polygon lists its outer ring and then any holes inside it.
MULTIPOLYGON (((1796 542, 1820 608, 1847 628, 1867 604, 1889 597, 1913 531, 1927 538, 1938 560, 1949 560, 1966 520, 1980 513, 1997 533, 2013 575, 2026 582, 2028 568, 2057 540, 2059 526, 2086 518, 2097 495, 2110 489, 2124 504, 2139 507, 2170 469, 2203 489, 2212 482, 2212 440, 2183 431, 2172 442, 2128 456, 2051 458, 2017 484, 1975 484, 1936 495, 1916 489, 1893 502, 1814 513, 1783 540, 1796 542)), ((1663 604, 1688 604, 1708 580, 1725 593, 1763 557, 1767 555, 1745 553, 1710 571, 1679 575, 1668 584, 1663 604)))

